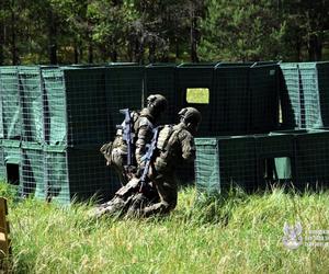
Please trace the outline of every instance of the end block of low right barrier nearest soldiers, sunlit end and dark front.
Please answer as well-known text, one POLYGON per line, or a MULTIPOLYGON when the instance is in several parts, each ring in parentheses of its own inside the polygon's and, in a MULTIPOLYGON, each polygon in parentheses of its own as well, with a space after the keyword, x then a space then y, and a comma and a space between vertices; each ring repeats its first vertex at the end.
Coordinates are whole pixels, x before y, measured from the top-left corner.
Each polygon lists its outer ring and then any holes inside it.
POLYGON ((239 185, 257 187, 256 140, 253 137, 196 138, 196 186, 208 192, 239 185))

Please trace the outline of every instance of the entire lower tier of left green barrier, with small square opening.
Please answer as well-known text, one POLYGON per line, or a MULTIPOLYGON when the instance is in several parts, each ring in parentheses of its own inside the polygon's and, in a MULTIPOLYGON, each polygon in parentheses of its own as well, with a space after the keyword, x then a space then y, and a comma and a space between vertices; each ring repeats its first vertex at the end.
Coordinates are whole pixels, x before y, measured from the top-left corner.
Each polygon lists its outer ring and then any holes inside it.
POLYGON ((0 174, 16 185, 19 195, 33 195, 61 204, 95 196, 109 199, 120 187, 104 165, 98 147, 44 147, 4 141, 0 150, 0 174))

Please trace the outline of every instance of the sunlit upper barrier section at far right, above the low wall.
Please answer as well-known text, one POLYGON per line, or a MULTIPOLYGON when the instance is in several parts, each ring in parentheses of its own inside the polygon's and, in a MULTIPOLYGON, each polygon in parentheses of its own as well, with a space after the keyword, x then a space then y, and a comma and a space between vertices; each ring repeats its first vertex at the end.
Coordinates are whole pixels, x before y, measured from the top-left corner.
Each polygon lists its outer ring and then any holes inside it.
POLYGON ((280 67, 283 127, 328 127, 329 62, 283 62, 280 67))

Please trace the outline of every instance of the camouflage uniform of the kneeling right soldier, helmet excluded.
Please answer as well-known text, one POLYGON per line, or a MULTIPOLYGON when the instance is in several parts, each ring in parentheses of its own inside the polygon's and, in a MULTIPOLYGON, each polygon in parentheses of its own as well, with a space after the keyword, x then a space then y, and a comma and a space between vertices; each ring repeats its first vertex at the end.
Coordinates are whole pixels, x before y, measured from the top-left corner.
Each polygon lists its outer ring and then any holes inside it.
POLYGON ((159 203, 146 206, 144 216, 158 213, 168 213, 177 205, 178 181, 175 167, 181 161, 193 161, 195 158, 195 146, 192 134, 185 124, 164 126, 158 137, 158 156, 156 157, 148 178, 156 187, 160 197, 159 203))

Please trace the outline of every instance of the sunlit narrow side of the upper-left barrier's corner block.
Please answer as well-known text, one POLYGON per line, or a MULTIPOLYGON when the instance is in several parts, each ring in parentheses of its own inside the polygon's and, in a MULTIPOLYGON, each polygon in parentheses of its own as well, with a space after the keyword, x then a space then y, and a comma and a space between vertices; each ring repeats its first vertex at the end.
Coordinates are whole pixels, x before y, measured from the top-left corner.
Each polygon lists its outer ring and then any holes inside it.
POLYGON ((67 144, 67 118, 64 72, 59 68, 42 70, 44 85, 45 142, 67 144))

